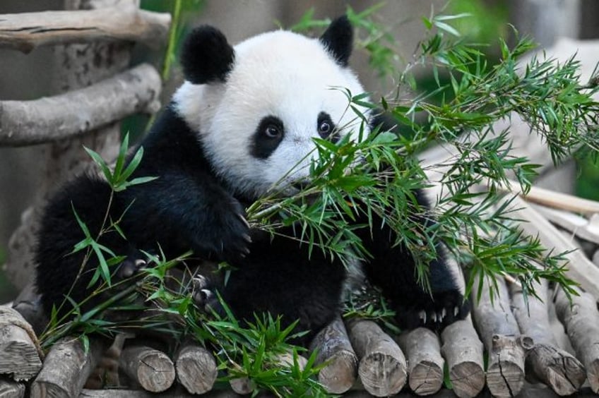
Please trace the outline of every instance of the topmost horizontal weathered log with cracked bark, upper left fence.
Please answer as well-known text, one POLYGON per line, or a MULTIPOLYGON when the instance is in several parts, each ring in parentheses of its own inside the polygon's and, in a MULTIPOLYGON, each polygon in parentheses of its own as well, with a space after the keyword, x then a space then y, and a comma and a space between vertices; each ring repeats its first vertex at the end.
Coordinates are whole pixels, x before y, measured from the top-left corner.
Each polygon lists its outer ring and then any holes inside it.
POLYGON ((169 13, 133 4, 97 10, 42 11, 0 15, 0 47, 30 52, 35 47, 97 40, 127 40, 159 47, 167 40, 169 13))

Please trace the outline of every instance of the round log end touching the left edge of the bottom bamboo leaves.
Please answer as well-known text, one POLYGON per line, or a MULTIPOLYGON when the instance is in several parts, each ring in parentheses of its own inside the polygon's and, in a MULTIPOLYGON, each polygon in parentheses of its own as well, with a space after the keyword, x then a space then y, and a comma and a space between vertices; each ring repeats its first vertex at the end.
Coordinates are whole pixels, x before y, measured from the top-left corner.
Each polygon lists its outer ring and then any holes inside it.
POLYGON ((203 346, 192 342, 187 342, 179 349, 174 368, 177 380, 191 394, 212 390, 218 373, 214 356, 203 346))

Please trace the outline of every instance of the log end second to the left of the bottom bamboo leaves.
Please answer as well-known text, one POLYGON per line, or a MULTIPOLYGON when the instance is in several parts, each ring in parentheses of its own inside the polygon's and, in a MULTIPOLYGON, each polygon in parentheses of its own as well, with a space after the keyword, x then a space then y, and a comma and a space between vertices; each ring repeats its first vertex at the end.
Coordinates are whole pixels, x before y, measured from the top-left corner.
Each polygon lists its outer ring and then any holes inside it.
POLYGON ((162 351, 148 346, 126 346, 119 367, 144 390, 162 392, 175 378, 174 365, 162 351))

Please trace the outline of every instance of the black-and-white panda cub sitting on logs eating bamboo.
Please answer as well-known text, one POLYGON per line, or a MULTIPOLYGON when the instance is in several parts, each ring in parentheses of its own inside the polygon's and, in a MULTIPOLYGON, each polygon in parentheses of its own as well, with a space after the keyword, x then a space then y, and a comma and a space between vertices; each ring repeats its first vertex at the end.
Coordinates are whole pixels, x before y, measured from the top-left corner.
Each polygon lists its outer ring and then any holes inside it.
MULTIPOLYGON (((270 311, 287 323, 299 320, 298 329, 312 333, 330 322, 340 310, 343 264, 319 250, 309 254, 309 245, 285 237, 292 228, 276 236, 251 229, 244 208, 275 183, 309 176, 313 138, 336 141, 359 130, 345 94, 331 89, 364 92, 348 68, 352 41, 345 16, 318 39, 280 30, 235 47, 215 28, 193 30, 181 56, 186 81, 142 140, 144 156, 131 176, 158 179, 116 193, 109 208, 112 219, 122 216, 127 238, 116 231, 100 237, 126 256, 115 277, 136 272, 141 251, 176 258, 191 249, 198 258, 235 267, 220 294, 238 318, 270 311)), ((79 275, 84 253, 71 252, 85 236, 73 208, 96 236, 110 195, 105 181, 83 175, 49 200, 35 255, 37 289, 48 313, 66 294, 78 303, 88 296, 97 262, 92 256, 79 275)), ((429 206, 422 192, 415 195, 429 206)), ((372 254, 364 274, 389 298, 401 327, 439 329, 467 314, 455 266, 440 246, 429 265, 428 293, 416 282, 410 253, 393 246, 382 219, 357 234, 372 254)))

